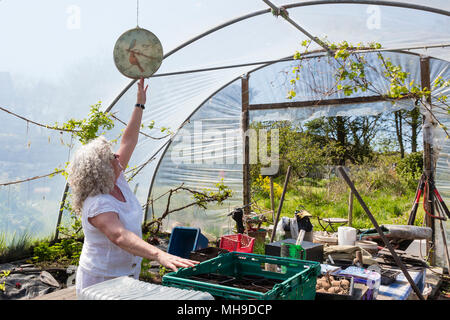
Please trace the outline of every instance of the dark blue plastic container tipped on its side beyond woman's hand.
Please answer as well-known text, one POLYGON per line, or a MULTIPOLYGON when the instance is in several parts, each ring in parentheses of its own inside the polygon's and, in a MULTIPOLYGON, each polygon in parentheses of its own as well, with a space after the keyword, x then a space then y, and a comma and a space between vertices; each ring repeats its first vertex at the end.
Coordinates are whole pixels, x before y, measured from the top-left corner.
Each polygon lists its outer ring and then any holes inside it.
POLYGON ((167 252, 182 258, 189 258, 191 251, 208 247, 208 238, 200 228, 175 227, 170 235, 167 252))

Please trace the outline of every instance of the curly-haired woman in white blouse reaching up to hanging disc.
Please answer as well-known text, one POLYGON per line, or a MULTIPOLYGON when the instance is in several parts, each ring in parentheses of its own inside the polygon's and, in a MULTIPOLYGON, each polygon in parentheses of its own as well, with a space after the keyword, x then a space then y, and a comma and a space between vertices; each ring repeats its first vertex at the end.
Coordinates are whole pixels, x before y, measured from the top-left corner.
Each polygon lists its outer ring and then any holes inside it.
POLYGON ((117 153, 112 153, 111 144, 101 136, 82 146, 69 165, 72 206, 81 214, 85 236, 75 281, 77 295, 85 287, 115 277, 138 279, 142 258, 174 271, 198 263, 142 239, 142 208, 123 174, 138 142, 147 88, 141 78, 137 104, 117 153))

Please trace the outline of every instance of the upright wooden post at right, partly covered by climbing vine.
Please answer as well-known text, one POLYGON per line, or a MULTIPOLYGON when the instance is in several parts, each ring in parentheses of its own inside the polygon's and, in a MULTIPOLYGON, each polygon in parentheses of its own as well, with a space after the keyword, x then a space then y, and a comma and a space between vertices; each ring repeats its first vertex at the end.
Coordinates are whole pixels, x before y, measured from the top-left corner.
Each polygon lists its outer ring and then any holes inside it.
MULTIPOLYGON (((422 89, 431 89, 430 83, 430 57, 421 56, 420 57, 420 78, 422 89)), ((424 101, 428 105, 428 108, 432 108, 431 106, 431 96, 427 97, 426 101, 424 101)), ((423 128, 423 172, 425 176, 430 181, 434 181, 434 167, 433 167, 433 147, 430 144, 432 139, 432 132, 429 124, 432 123, 431 114, 429 112, 425 112, 423 115, 423 124, 428 124, 423 128)), ((434 215, 434 206, 432 199, 430 197, 430 193, 427 192, 427 198, 423 201, 425 202, 425 208, 428 212, 434 215)), ((429 252, 430 248, 434 248, 435 244, 435 227, 434 220, 428 215, 425 215, 425 224, 427 227, 432 229, 432 238, 431 243, 427 241, 427 252, 429 252)), ((434 265, 435 263, 435 250, 430 256, 430 264, 434 265)))

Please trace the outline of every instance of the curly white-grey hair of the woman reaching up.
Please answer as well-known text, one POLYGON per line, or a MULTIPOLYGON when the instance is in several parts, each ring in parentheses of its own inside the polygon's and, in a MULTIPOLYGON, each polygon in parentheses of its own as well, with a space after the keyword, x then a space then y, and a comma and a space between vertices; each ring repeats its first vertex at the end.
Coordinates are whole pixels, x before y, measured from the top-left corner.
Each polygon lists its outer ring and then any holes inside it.
POLYGON ((114 188, 111 143, 100 136, 81 146, 67 168, 72 194, 72 209, 81 214, 87 197, 108 194, 114 188))

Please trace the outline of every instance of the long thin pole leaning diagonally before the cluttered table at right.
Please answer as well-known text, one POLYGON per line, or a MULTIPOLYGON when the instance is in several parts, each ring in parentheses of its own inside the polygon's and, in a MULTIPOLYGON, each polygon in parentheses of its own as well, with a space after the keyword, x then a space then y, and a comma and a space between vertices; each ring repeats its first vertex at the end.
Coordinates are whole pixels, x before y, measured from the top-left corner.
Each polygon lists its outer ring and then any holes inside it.
POLYGON ((380 235, 381 239, 383 240, 385 246, 389 249, 389 251, 392 254, 392 257, 394 258, 395 263, 397 266, 402 270, 403 274, 405 275, 405 278, 408 280, 409 284, 413 288, 414 292, 417 294, 420 300, 425 300, 425 298, 422 295, 422 292, 420 292, 419 288, 417 287, 414 280, 411 278, 411 276, 408 273, 408 270, 406 269, 405 265, 401 261, 401 259, 398 257, 397 253, 395 252, 394 248, 389 243, 389 240, 386 238, 386 235, 383 233, 383 230, 381 230, 380 226, 378 225, 378 222, 373 217, 372 213, 370 213, 369 208, 367 208, 366 204, 364 203, 363 199, 359 195, 358 191, 355 188, 355 185, 353 182, 351 182, 350 178, 345 173, 344 168, 338 167, 338 171, 341 174, 342 178, 344 178, 345 182, 347 182, 350 189, 352 189, 352 192, 354 193, 356 199, 358 199, 359 203, 361 204, 361 207, 366 212, 367 216, 369 217, 370 221, 372 222, 373 226, 377 230, 378 234, 380 235))

